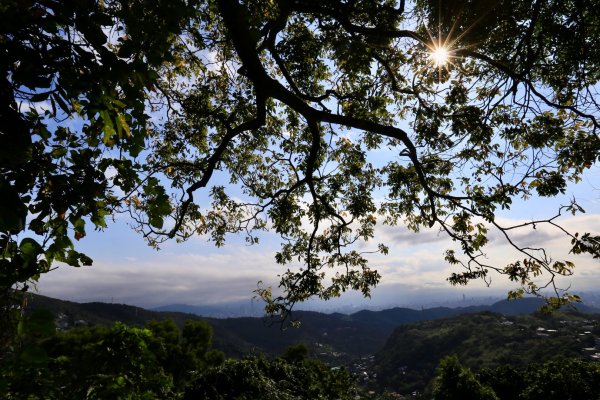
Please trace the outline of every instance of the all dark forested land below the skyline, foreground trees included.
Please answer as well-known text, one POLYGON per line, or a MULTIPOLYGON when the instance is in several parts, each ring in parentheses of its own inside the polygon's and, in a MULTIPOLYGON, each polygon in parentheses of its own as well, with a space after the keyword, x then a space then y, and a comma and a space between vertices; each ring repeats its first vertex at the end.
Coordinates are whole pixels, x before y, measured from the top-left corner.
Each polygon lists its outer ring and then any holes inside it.
MULTIPOLYGON (((504 302, 497 307, 507 308, 504 302)), ((531 305, 514 304, 512 314, 463 309, 460 315, 443 317, 441 309, 432 309, 421 321, 397 319, 398 326, 388 331, 381 348, 365 353, 360 342, 369 333, 349 335, 357 326, 352 316, 344 316, 346 325, 341 326, 340 315, 306 313, 293 336, 282 339, 286 331, 269 326, 263 318, 206 319, 36 296, 21 320, 12 350, 2 354, 0 395, 6 399, 596 399, 600 315, 524 313, 528 308, 531 305), (219 334, 207 321, 219 327, 219 334), (219 325, 224 321, 227 324, 219 325), (248 332, 254 334, 245 332, 244 340, 236 335, 252 324, 248 332), (322 334, 315 337, 305 329, 311 324, 327 327, 330 346, 323 345, 327 338, 322 334), (337 338, 344 336, 350 343, 335 347, 337 338), (348 351, 352 343, 353 352, 348 351)), ((407 313, 396 309, 366 314, 373 323, 389 321, 392 315, 406 318, 407 313)), ((378 329, 383 326, 380 323, 378 329)))

